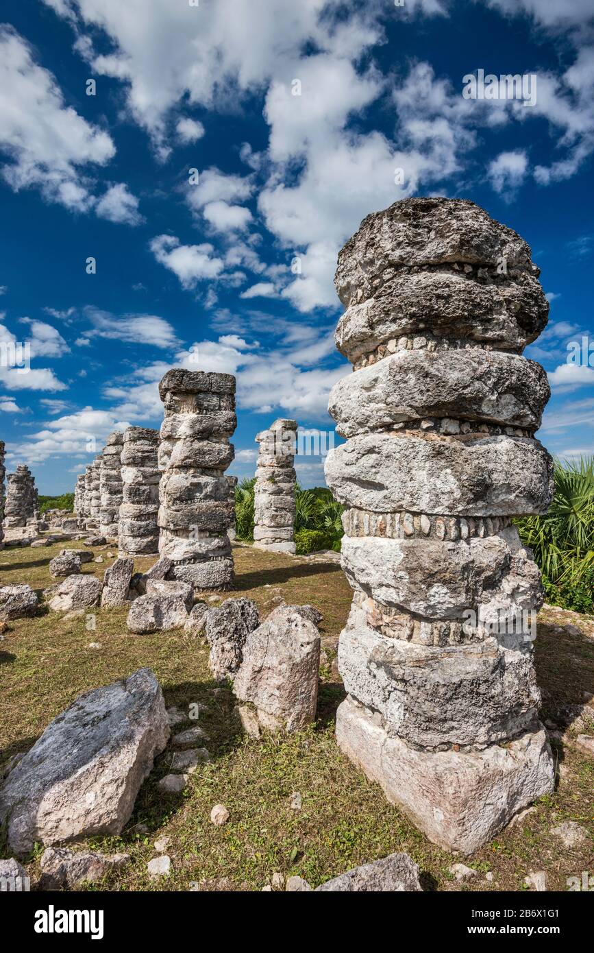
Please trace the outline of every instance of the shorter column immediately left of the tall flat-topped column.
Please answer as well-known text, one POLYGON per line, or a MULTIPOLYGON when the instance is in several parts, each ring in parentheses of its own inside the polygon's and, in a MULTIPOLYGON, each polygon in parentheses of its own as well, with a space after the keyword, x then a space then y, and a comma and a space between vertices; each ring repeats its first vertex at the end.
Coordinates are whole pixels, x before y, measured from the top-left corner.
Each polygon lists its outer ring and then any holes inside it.
POLYGON ((159 431, 129 427, 122 447, 121 556, 153 556, 159 550, 159 431))

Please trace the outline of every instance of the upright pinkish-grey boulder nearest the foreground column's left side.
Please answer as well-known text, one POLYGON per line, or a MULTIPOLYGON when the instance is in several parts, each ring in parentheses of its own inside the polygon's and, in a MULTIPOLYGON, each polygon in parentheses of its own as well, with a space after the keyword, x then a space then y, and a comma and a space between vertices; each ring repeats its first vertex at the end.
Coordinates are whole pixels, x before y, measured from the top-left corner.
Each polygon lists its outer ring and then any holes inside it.
POLYGON ((296 731, 315 720, 320 636, 297 612, 279 607, 247 633, 233 690, 267 728, 296 731))

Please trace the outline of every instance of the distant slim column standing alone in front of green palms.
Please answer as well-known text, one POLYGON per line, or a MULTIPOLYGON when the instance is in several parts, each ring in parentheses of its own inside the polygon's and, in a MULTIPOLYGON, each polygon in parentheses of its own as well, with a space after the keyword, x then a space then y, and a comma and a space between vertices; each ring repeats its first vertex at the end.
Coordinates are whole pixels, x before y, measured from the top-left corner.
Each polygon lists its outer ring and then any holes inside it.
POLYGON ((256 436, 259 444, 254 487, 254 546, 295 553, 296 420, 275 420, 256 436))

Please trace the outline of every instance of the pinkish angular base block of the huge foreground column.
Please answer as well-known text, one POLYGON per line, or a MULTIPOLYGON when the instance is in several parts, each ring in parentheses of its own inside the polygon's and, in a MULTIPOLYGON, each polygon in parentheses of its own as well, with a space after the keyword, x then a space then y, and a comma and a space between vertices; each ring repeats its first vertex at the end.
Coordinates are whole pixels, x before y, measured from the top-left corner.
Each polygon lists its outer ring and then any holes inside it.
POLYGON ((484 751, 417 751, 390 736, 379 715, 349 697, 336 713, 336 740, 430 841, 472 854, 530 801, 553 790, 545 729, 484 751))

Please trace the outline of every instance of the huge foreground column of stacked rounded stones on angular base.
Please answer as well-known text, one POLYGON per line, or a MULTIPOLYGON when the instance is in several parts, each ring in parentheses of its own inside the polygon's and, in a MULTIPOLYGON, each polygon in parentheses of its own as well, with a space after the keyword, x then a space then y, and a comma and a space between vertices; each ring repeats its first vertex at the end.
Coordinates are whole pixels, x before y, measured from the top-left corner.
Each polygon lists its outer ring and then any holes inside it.
POLYGON ((461 199, 367 215, 339 255, 329 399, 354 598, 340 747, 426 835, 471 853, 553 790, 532 658, 540 574, 512 517, 545 513, 549 397, 521 356, 548 305, 525 241, 461 199))

